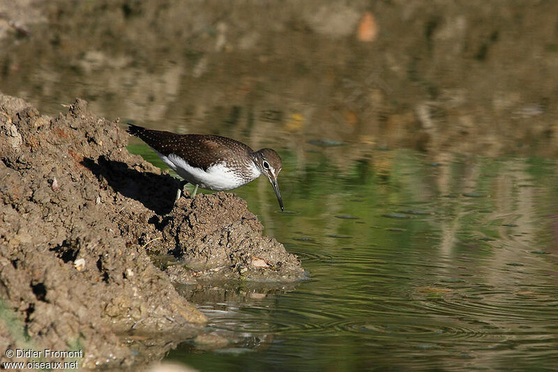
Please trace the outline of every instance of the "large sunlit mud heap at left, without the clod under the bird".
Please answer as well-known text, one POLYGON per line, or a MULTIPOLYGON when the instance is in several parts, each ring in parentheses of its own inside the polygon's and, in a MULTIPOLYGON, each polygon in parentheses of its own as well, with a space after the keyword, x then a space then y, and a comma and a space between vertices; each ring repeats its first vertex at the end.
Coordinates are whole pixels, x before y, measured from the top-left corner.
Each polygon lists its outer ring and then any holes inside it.
POLYGON ((122 238, 147 210, 83 165, 122 157, 126 135, 87 114, 83 101, 51 120, 2 96, 0 120, 0 297, 3 320, 15 321, 4 346, 79 349, 80 366, 126 365, 138 358, 118 332, 196 334, 190 323, 204 316, 122 238))

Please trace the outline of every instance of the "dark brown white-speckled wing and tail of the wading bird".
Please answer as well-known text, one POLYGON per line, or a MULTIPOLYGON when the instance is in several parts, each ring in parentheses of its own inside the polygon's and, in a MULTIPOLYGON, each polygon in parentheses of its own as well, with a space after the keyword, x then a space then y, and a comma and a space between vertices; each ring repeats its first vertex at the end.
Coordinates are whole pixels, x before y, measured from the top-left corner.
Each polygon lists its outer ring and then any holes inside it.
POLYGON ((128 133, 139 137, 159 153, 177 155, 191 166, 206 170, 217 162, 234 159, 232 153, 252 153, 253 150, 234 139, 210 134, 176 134, 162 130, 149 130, 130 125, 128 133))

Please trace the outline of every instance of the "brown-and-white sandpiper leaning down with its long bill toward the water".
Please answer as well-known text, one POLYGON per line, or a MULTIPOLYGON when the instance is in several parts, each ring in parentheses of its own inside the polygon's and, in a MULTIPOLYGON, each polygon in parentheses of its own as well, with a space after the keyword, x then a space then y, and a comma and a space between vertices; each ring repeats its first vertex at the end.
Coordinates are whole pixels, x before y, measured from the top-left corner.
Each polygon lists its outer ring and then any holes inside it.
POLYGON ((271 148, 255 151, 228 137, 176 134, 134 124, 128 124, 126 132, 142 139, 167 166, 183 178, 176 200, 180 198, 181 189, 186 183, 195 186, 191 195, 194 198, 198 187, 215 191, 236 189, 263 174, 271 183, 281 210, 284 210, 277 183, 282 162, 278 153, 271 148))

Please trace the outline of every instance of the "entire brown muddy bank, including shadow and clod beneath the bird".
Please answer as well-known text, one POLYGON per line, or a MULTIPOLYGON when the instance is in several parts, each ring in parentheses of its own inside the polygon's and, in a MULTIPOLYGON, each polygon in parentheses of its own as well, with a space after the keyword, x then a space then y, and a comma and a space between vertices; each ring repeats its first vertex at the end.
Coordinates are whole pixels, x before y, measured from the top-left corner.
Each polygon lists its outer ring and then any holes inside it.
POLYGON ((3 350, 84 350, 80 367, 157 359, 206 321, 172 279, 303 276, 232 194, 173 207, 179 182, 127 141, 82 100, 50 118, 0 95, 3 350))

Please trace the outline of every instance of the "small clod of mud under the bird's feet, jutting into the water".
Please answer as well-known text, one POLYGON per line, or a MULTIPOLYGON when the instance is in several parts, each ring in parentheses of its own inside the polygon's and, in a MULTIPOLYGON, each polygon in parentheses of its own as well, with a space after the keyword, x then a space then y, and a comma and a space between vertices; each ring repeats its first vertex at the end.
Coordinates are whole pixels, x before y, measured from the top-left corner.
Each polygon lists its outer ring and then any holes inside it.
POLYGON ((296 256, 275 239, 232 194, 202 194, 180 199, 163 228, 163 247, 181 258, 167 267, 183 283, 208 279, 294 281, 304 272, 296 256))

